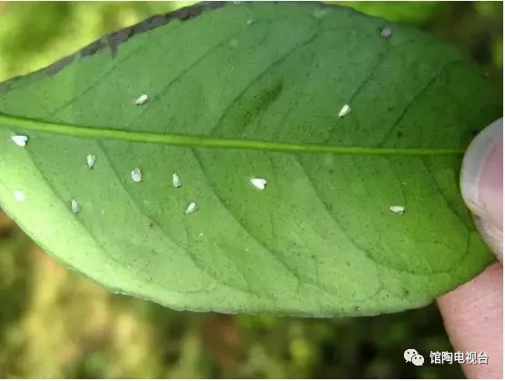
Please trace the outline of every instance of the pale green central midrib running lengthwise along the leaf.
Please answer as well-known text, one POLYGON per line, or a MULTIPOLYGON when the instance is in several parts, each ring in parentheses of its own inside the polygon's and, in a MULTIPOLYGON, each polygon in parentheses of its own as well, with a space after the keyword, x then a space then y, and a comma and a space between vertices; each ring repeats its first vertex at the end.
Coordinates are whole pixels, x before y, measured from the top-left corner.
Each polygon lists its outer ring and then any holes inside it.
POLYGON ((462 155, 464 153, 464 149, 407 149, 389 147, 331 146, 288 141, 227 139, 211 138, 199 135, 180 135, 121 129, 96 129, 86 126, 48 122, 45 120, 15 117, 5 114, 0 114, 0 124, 7 125, 10 129, 14 127, 18 129, 52 133, 56 135, 66 135, 76 138, 114 139, 137 143, 155 143, 193 148, 256 149, 281 152, 328 152, 341 155, 371 156, 454 156, 462 155))

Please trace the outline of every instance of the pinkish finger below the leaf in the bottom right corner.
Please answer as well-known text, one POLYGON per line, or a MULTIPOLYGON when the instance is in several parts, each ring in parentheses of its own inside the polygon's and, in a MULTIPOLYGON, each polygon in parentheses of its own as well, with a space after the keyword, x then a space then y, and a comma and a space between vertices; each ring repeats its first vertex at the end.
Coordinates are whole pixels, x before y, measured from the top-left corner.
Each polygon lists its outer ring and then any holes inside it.
POLYGON ((470 378, 503 378, 503 266, 491 264, 469 283, 437 300, 455 350, 480 351, 488 365, 463 365, 470 378))

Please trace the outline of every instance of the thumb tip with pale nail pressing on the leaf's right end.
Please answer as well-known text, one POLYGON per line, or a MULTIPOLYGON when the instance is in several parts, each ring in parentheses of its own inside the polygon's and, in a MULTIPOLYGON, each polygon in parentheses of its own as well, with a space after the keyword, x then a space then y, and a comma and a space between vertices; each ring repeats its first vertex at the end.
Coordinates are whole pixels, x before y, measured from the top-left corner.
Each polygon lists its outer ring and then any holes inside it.
POLYGON ((484 239, 501 261, 503 252, 503 119, 470 143, 461 166, 461 194, 484 239))

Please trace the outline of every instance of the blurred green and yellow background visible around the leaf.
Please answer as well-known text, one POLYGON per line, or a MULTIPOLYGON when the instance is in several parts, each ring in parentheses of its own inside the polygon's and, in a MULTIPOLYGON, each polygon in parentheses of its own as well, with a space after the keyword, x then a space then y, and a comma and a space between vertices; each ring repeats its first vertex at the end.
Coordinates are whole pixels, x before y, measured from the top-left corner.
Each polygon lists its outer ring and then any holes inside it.
MULTIPOLYGON (((500 2, 339 2, 451 41, 502 81, 500 2)), ((0 3, 0 80, 52 63, 172 3, 0 3)), ((1 377, 457 378, 435 305, 377 317, 176 312, 107 293, 48 257, 0 210, 1 377), (425 366, 405 363, 416 348, 425 366)))

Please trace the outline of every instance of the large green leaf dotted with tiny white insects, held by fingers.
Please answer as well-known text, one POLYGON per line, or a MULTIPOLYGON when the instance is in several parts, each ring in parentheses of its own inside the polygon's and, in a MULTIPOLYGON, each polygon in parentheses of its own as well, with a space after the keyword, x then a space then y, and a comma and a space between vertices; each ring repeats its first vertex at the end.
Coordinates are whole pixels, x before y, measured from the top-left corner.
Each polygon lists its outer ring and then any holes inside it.
POLYGON ((2 207, 61 262, 172 308, 428 304, 492 259, 458 184, 501 99, 457 50, 383 26, 314 3, 197 5, 7 81, 2 207))

